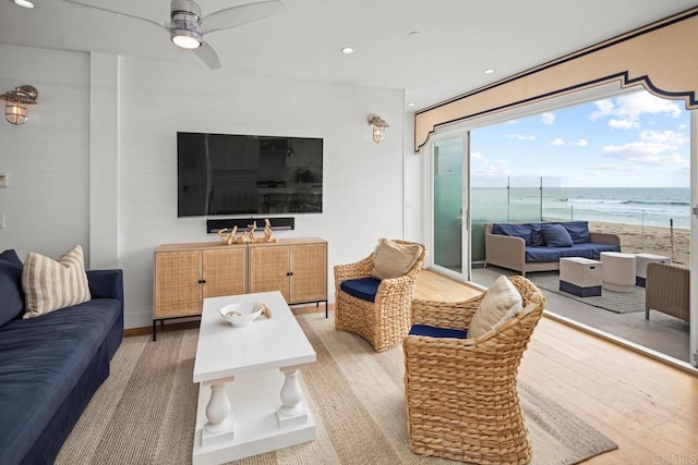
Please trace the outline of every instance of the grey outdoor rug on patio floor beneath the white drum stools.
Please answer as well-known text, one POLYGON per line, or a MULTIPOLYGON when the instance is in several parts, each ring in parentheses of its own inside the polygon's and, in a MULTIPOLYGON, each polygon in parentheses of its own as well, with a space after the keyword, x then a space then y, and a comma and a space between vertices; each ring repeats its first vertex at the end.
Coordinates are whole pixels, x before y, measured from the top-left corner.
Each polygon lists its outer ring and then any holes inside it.
POLYGON ((592 307, 603 308, 616 314, 645 311, 645 287, 639 285, 634 286, 633 292, 614 292, 604 289, 599 296, 578 297, 559 290, 559 274, 557 271, 529 272, 526 278, 542 290, 554 292, 592 307))

